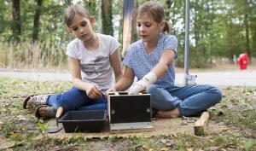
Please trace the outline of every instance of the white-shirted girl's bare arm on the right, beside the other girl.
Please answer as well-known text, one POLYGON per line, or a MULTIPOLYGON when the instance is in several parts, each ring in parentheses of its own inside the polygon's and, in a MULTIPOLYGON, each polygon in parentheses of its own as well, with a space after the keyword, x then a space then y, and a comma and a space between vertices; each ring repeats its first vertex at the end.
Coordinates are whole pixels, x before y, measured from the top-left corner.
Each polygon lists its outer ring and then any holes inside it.
POLYGON ((114 73, 115 81, 117 82, 123 76, 122 67, 121 67, 121 60, 120 60, 118 49, 115 50, 112 55, 110 55, 109 60, 110 60, 110 63, 113 67, 113 73, 114 73))

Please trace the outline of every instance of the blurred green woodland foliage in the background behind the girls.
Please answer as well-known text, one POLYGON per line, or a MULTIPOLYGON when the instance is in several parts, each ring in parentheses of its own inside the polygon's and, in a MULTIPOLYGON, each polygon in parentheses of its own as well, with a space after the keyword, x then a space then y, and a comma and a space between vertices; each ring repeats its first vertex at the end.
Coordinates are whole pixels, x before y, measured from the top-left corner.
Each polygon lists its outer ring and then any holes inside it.
MULTIPOLYGON (((159 1, 165 7, 166 20, 172 25, 172 34, 178 39, 179 55, 177 67, 183 67, 185 1, 159 1)), ((103 33, 114 34, 116 38, 119 38, 120 42, 122 41, 123 1, 106 0, 104 1, 107 2, 105 9, 99 8, 99 0, 79 0, 76 2, 84 5, 89 10, 90 15, 96 18, 95 26, 97 25, 98 10, 102 9, 103 33), (119 24, 117 24, 118 21, 119 24)), ((140 6, 146 0, 135 0, 135 2, 140 6)), ((42 5, 39 20, 38 44, 49 44, 50 47, 57 49, 57 53, 55 54, 57 62, 60 61, 59 58, 61 58, 61 61, 62 59, 67 59, 63 56, 65 53, 63 51, 60 53, 58 50, 66 49, 68 42, 73 39, 72 35, 67 32, 67 27, 64 25, 63 20, 64 9, 72 3, 73 1, 71 0, 46 0, 42 5)), ((15 49, 16 44, 13 44, 15 37, 12 26, 14 25, 14 21, 12 17, 9 17, 12 16, 12 4, 12 1, 0 0, 0 45, 5 45, 4 49, 8 48, 7 50, 0 51, 0 53, 4 51, 4 55, 1 55, 1 61, 3 57, 5 58, 1 62, 0 67, 15 67, 15 65, 10 65, 11 61, 9 59, 21 55, 20 53, 27 53, 26 49, 15 49), (18 52, 16 53, 15 51, 18 52), (7 55, 7 52, 11 56, 7 55)), ((37 3, 34 0, 20 1, 21 34, 19 38, 21 43, 26 44, 32 41, 33 20, 36 8, 37 3)), ((232 59, 233 55, 238 56, 242 52, 250 53, 255 57, 255 14, 256 4, 254 1, 190 0, 189 66, 207 67, 208 62, 214 58, 227 57, 232 59), (247 15, 248 32, 246 32, 245 28, 245 15, 247 15), (248 42, 246 38, 248 38, 248 42)), ((133 39, 137 40, 137 36, 133 35, 133 39)), ((45 58, 49 56, 49 53, 46 53, 48 54, 46 55, 45 50, 41 50, 41 58, 43 57, 44 61, 46 61, 47 59, 45 58)), ((16 59, 15 57, 11 60, 16 59)), ((24 59, 20 59, 20 61, 24 61, 24 59)))

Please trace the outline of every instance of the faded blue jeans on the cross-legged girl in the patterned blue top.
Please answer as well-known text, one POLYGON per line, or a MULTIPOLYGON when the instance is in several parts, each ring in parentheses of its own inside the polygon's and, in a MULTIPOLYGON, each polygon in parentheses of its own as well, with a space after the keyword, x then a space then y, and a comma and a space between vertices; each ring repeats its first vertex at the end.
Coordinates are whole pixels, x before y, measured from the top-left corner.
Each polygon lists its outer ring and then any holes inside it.
POLYGON ((222 92, 212 85, 183 85, 163 89, 152 84, 148 88, 152 107, 161 111, 177 108, 180 115, 192 116, 214 106, 222 99, 222 92))

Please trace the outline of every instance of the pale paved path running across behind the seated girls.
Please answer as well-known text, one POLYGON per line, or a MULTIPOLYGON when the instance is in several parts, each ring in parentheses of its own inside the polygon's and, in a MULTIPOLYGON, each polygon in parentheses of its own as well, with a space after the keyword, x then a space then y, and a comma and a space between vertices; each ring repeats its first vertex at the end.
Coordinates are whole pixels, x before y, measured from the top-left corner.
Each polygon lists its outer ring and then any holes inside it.
MULTIPOLYGON (((197 84, 256 86, 256 70, 189 74, 197 75, 195 80, 197 84)), ((71 75, 69 73, 26 73, 0 71, 0 77, 24 78, 37 81, 71 80, 71 75)), ((176 84, 183 84, 183 77, 183 73, 177 73, 175 80, 176 84)))

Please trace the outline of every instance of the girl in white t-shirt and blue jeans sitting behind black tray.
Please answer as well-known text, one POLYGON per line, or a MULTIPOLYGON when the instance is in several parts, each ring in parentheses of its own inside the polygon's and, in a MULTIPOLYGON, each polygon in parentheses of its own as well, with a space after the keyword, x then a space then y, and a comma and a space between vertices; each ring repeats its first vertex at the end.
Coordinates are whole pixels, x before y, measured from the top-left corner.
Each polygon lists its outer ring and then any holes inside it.
POLYGON ((80 5, 65 11, 65 23, 75 39, 67 45, 73 88, 64 93, 28 96, 24 108, 36 108, 38 118, 55 117, 59 107, 64 111, 107 109, 103 95, 113 82, 122 77, 119 42, 108 35, 95 33, 94 17, 80 5), (113 76, 114 74, 114 76, 113 76))

